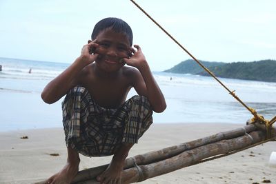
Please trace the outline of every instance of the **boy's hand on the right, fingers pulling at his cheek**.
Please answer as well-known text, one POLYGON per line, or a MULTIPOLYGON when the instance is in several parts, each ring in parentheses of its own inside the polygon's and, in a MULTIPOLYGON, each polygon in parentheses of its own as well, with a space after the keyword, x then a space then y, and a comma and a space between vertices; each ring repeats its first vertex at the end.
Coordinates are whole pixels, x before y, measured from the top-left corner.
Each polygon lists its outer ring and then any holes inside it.
POLYGON ((127 65, 133 66, 137 69, 140 69, 144 63, 146 63, 146 57, 144 56, 143 52, 139 45, 133 45, 137 50, 134 48, 130 48, 130 59, 124 59, 127 65))

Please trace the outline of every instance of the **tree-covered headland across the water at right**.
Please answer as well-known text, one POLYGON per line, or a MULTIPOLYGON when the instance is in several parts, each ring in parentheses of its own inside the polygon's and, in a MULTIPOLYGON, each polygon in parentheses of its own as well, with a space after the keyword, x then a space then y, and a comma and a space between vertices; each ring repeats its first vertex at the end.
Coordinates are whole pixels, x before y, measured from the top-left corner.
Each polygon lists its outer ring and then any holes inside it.
MULTIPOLYGON (((276 82, 275 60, 267 59, 262 61, 234 63, 201 61, 201 63, 218 77, 276 82)), ((192 59, 182 61, 164 72, 209 76, 209 74, 192 59)))

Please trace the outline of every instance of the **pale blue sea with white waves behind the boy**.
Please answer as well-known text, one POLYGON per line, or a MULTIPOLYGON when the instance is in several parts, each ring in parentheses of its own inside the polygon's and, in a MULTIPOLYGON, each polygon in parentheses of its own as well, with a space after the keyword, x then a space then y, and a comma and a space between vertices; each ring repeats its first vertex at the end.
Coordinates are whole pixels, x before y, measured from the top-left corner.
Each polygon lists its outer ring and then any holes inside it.
MULTIPOLYGON (((0 131, 62 127, 63 99, 48 105, 40 94, 70 64, 0 58, 0 65, 0 131)), ((252 118, 212 77, 152 73, 167 102, 165 112, 153 114, 154 123, 240 123, 242 126, 252 118)), ((266 119, 276 115, 276 83, 220 80, 266 119)), ((134 94, 135 90, 130 90, 128 98, 134 94)))

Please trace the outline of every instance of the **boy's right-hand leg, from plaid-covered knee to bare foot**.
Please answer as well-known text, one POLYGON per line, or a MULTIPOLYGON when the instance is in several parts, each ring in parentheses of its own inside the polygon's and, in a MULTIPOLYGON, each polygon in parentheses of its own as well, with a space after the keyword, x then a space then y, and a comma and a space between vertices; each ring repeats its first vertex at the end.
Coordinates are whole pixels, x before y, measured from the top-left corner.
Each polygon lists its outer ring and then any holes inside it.
MULTIPOLYGON (((105 172, 97 177, 100 183, 121 183, 121 173, 124 170, 124 161, 130 148, 148 130, 152 124, 152 110, 148 99, 144 96, 133 96, 126 103, 128 118, 121 132, 122 141, 112 157, 112 161, 105 172)), ((124 114, 124 112, 122 112, 124 114)))

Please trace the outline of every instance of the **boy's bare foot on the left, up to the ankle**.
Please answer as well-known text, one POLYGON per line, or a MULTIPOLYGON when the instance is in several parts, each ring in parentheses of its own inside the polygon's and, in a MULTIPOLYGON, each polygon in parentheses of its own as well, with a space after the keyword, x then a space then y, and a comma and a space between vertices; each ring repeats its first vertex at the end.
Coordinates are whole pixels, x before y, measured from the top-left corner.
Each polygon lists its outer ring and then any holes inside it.
POLYGON ((70 184, 79 171, 79 162, 67 163, 61 171, 54 176, 48 178, 46 183, 49 184, 70 184))

